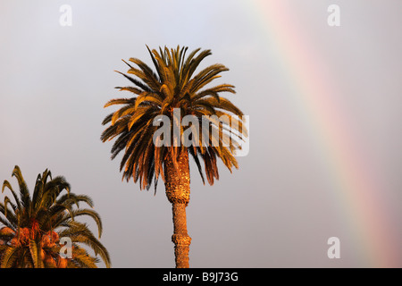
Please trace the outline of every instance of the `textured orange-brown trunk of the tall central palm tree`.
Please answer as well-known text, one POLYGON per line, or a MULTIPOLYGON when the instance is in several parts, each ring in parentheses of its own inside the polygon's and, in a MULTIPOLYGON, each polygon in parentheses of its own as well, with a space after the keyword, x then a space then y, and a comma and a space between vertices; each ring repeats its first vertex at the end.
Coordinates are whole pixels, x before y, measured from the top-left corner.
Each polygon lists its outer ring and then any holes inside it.
POLYGON ((188 151, 182 151, 173 163, 169 154, 164 162, 166 197, 172 204, 174 255, 176 268, 188 268, 188 251, 191 238, 187 233, 186 206, 189 202, 188 151))

